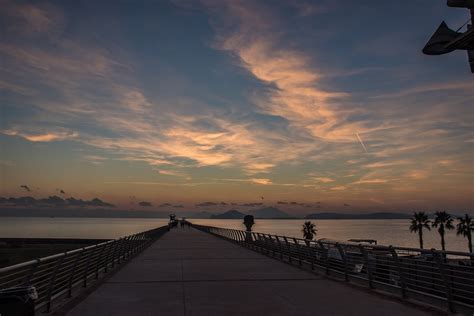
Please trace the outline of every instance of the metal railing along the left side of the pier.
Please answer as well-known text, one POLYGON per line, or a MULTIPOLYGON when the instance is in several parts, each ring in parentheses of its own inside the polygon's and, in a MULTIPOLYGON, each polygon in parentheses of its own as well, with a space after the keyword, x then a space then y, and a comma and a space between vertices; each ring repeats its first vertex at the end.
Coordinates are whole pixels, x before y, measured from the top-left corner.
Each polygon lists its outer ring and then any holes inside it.
POLYGON ((161 237, 163 226, 116 240, 58 253, 0 269, 0 289, 32 285, 38 292, 36 310, 60 297, 72 297, 73 291, 85 288, 161 237))

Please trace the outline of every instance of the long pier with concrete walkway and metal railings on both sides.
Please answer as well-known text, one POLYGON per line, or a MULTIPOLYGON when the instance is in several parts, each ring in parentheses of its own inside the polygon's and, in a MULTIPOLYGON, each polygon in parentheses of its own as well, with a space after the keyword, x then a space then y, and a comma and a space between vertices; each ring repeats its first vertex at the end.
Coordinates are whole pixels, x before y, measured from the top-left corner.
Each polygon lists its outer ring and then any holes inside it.
POLYGON ((0 313, 23 305, 36 315, 472 315, 473 261, 462 252, 163 226, 0 268, 0 313))

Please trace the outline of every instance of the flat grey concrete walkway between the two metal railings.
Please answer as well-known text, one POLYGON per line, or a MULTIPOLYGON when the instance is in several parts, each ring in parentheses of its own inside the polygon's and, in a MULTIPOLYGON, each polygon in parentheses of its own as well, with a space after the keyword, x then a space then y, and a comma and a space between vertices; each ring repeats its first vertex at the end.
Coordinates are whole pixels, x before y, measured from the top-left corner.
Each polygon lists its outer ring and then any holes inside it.
POLYGON ((67 315, 428 315, 194 230, 175 228, 67 315))

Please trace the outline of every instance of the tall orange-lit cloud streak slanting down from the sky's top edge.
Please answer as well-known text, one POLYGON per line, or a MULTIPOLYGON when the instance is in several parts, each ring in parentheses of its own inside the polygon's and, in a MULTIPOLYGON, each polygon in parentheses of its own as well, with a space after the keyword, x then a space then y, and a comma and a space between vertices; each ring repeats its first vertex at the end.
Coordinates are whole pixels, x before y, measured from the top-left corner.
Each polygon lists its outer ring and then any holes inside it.
POLYGON ((206 2, 218 32, 216 47, 236 56, 252 76, 268 84, 257 105, 263 113, 286 119, 315 139, 353 142, 362 124, 348 122, 336 100, 347 93, 321 88, 322 73, 301 51, 282 45, 279 17, 254 2, 206 2), (265 18, 262 18, 265 12, 265 18))

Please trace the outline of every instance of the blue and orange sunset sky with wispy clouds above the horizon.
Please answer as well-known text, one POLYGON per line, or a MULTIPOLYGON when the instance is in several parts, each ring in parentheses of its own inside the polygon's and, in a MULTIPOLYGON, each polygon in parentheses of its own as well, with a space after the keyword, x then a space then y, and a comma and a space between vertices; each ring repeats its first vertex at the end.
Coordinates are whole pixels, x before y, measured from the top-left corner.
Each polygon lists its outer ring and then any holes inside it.
POLYGON ((474 75, 465 51, 421 52, 466 9, 0 5, 0 196, 15 198, 2 207, 473 209, 474 75))

